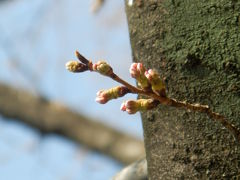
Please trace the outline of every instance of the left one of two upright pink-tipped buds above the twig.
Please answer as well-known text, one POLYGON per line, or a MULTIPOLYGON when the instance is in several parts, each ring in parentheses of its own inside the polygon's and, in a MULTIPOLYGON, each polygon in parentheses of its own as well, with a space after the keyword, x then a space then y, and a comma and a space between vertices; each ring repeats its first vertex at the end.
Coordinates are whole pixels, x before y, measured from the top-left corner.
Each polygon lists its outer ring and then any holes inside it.
POLYGON ((132 63, 129 71, 131 76, 137 80, 140 87, 142 87, 143 89, 149 87, 148 80, 144 75, 146 69, 142 63, 132 63))

